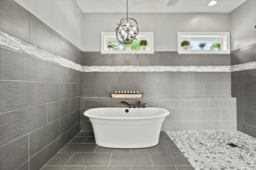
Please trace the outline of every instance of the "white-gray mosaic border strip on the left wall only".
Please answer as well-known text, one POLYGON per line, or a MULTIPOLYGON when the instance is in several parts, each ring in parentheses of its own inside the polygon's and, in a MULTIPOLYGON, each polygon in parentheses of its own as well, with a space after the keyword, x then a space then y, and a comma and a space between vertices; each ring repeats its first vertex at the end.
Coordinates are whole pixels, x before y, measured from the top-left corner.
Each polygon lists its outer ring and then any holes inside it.
POLYGON ((73 61, 60 57, 59 55, 56 55, 45 49, 37 47, 36 45, 18 39, 3 31, 0 31, 0 47, 3 49, 14 51, 16 53, 28 55, 36 59, 72 68, 81 72, 83 70, 83 66, 81 66, 80 64, 76 64, 73 61))

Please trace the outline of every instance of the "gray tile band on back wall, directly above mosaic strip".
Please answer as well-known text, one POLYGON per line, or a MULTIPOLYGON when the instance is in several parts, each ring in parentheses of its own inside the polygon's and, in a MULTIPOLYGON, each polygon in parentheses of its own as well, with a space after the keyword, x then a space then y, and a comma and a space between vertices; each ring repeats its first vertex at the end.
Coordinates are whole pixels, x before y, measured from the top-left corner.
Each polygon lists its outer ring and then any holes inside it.
POLYGON ((83 52, 83 66, 230 66, 230 55, 190 55, 177 51, 154 54, 83 52))

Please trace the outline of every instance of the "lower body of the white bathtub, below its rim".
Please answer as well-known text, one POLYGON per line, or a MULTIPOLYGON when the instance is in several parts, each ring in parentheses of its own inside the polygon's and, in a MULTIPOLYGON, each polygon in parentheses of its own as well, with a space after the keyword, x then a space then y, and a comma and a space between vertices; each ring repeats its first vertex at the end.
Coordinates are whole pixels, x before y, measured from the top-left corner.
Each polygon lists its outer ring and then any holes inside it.
POLYGON ((148 125, 107 125, 93 123, 95 142, 108 148, 146 148, 159 142, 162 122, 148 125))

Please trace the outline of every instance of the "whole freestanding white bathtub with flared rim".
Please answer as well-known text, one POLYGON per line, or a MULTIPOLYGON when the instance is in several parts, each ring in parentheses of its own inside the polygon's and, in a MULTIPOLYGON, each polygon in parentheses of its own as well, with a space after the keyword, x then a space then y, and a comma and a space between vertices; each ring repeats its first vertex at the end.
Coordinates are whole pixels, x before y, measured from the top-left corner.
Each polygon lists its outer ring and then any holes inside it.
POLYGON ((96 144, 109 148, 146 148, 158 144, 164 118, 170 112, 157 107, 88 109, 96 144), (128 111, 128 112, 127 112, 128 111))

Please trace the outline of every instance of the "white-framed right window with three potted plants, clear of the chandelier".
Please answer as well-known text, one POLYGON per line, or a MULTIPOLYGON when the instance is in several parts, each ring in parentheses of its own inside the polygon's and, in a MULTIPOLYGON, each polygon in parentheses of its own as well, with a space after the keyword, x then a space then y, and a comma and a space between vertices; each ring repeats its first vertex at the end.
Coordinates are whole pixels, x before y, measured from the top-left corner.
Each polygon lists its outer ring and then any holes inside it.
POLYGON ((229 32, 178 32, 178 54, 230 54, 229 32), (188 50, 182 50, 180 43, 190 41, 188 50), (199 43, 207 43, 204 50, 200 50, 199 43), (219 43, 221 50, 215 49, 219 43))

